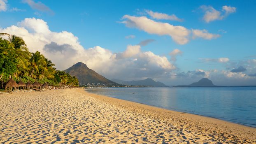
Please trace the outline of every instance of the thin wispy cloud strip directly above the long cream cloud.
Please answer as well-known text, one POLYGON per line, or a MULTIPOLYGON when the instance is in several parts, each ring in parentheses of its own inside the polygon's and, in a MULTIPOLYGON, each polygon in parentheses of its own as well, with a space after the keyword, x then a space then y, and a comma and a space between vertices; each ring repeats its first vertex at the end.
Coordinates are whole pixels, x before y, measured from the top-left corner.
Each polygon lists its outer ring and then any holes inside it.
POLYGON ((154 19, 166 19, 166 20, 172 20, 172 21, 182 21, 182 19, 179 19, 175 14, 168 15, 168 14, 163 14, 159 12, 152 12, 151 10, 146 10, 147 14, 151 16, 154 19))

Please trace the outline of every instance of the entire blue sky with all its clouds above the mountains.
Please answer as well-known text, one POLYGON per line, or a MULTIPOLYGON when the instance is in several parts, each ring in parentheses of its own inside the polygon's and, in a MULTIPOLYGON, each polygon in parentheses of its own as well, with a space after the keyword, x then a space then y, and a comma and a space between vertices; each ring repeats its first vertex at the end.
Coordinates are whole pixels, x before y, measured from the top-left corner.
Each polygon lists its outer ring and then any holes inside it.
POLYGON ((65 70, 166 85, 256 85, 255 0, 0 0, 0 33, 65 70))

